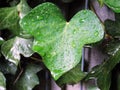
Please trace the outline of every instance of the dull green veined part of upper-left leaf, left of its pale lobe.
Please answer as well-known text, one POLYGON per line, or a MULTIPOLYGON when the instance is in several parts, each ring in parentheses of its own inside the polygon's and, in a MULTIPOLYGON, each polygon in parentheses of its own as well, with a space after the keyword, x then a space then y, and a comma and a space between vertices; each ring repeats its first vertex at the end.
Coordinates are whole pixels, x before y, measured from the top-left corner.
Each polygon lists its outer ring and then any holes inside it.
POLYGON ((0 8, 0 30, 9 29, 15 35, 19 34, 19 16, 16 7, 0 8))

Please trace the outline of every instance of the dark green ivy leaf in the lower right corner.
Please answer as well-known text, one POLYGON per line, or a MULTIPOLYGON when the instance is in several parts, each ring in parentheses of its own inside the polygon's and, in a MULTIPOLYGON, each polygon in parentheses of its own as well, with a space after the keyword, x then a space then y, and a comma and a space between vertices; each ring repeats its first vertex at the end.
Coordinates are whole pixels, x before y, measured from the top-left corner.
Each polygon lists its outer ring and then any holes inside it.
POLYGON ((109 90, 111 85, 111 71, 120 62, 120 50, 115 55, 111 56, 103 64, 94 67, 93 70, 88 73, 86 79, 97 78, 98 86, 101 90, 109 90))

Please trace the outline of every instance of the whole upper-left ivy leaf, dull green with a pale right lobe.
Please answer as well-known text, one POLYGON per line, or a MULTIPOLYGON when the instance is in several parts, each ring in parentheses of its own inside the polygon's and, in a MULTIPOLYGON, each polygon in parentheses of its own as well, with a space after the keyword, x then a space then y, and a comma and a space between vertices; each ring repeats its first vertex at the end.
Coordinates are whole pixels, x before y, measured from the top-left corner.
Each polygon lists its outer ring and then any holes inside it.
POLYGON ((12 34, 19 35, 21 31, 19 25, 20 17, 22 18, 29 11, 30 7, 26 0, 21 0, 17 6, 0 8, 0 30, 9 29, 12 34))

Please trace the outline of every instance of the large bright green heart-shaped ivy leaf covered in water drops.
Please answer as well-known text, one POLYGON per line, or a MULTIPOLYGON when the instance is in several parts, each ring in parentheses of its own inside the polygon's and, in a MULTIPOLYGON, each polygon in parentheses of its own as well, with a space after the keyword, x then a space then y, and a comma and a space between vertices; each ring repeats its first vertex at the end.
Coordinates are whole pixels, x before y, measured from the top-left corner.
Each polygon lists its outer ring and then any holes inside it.
POLYGON ((59 8, 49 2, 31 10, 20 25, 34 36, 33 50, 42 56, 55 80, 80 62, 85 44, 100 41, 104 36, 92 11, 82 10, 66 22, 59 8))

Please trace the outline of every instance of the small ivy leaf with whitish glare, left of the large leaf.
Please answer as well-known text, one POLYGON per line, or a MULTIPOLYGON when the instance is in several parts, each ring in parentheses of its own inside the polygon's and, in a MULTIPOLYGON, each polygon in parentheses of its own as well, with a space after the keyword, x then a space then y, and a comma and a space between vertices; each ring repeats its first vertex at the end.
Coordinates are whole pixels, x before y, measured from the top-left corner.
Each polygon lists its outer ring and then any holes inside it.
POLYGON ((29 57, 33 54, 31 50, 33 44, 33 38, 21 38, 15 37, 8 41, 5 41, 1 46, 2 54, 8 59, 10 62, 18 65, 20 61, 20 54, 25 57, 29 57))

